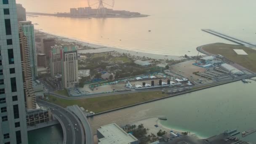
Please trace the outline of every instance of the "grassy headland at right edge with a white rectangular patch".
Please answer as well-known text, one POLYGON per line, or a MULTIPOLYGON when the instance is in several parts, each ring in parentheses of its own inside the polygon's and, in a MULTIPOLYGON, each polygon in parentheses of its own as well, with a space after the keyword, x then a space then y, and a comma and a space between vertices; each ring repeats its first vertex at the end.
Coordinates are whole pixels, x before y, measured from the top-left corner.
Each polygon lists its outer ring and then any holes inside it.
POLYGON ((212 54, 220 54, 230 61, 256 72, 256 51, 251 48, 247 48, 243 45, 214 43, 203 46, 203 50, 212 54), (248 53, 248 55, 238 55, 233 49, 243 49, 246 53, 248 53))

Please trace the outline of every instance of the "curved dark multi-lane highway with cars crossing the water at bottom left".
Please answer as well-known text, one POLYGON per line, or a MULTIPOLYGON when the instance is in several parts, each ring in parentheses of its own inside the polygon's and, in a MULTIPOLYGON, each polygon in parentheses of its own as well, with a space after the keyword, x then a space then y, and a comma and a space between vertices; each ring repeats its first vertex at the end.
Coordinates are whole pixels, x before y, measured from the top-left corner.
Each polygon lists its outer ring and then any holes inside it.
POLYGON ((53 116, 61 123, 64 133, 63 144, 85 144, 85 134, 82 124, 68 109, 46 101, 38 100, 38 104, 49 107, 53 116))

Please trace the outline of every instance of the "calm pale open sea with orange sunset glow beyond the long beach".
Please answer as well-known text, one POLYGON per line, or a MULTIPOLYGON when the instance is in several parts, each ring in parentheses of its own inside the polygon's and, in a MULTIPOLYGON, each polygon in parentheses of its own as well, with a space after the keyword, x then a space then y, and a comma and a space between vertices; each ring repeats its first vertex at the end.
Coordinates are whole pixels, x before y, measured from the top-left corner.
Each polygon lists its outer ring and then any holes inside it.
MULTIPOLYGON (((24 0, 25 7, 27 1, 24 0)), ((53 13, 69 11, 69 7, 85 6, 84 3, 61 2, 63 6, 58 10, 56 5, 59 1, 51 2, 46 10, 38 7, 43 3, 40 2, 35 8, 28 6, 28 11, 53 13), (53 5, 55 8, 50 9, 53 5)), ((256 43, 256 19, 253 19, 253 13, 256 13, 255 0, 247 0, 246 3, 240 0, 116 0, 115 3, 114 9, 137 11, 151 16, 115 19, 39 16, 28 17, 28 20, 39 24, 37 29, 55 35, 164 55, 197 55, 195 48, 199 45, 231 43, 202 32, 204 28, 256 43)))

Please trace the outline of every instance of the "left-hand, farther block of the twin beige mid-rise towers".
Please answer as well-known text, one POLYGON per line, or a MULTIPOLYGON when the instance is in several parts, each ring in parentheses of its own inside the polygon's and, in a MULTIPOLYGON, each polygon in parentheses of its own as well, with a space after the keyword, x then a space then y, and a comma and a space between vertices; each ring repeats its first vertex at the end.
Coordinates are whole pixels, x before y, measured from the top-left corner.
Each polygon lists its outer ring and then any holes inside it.
POLYGON ((61 46, 52 46, 50 52, 51 77, 61 75, 61 46))

